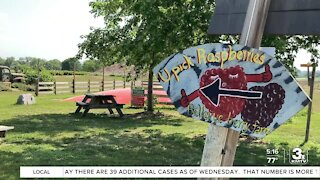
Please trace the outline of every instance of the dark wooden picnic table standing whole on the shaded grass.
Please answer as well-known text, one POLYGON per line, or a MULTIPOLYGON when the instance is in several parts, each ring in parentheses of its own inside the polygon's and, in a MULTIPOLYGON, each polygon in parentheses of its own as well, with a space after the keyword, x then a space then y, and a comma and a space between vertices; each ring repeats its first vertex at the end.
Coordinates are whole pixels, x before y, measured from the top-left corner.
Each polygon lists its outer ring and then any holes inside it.
POLYGON ((110 114, 114 114, 112 109, 116 109, 120 117, 123 116, 121 109, 124 104, 118 104, 113 95, 86 94, 81 102, 77 102, 78 108, 75 114, 84 109, 82 116, 86 116, 90 109, 108 109, 110 114))

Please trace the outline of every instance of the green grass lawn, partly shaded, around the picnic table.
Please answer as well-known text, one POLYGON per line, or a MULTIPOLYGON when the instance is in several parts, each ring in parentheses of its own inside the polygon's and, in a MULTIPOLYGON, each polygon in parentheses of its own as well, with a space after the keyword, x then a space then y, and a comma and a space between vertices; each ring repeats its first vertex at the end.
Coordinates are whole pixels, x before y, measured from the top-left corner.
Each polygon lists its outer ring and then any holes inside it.
MULTIPOLYGON (((305 85, 304 85, 305 86, 305 85)), ((199 166, 208 124, 185 118, 174 109, 136 114, 126 107, 126 118, 93 110, 75 116, 75 104, 61 100, 74 96, 43 95, 35 105, 15 105, 21 92, 0 92, 0 124, 15 126, 0 140, 0 179, 18 179, 27 165, 191 165, 199 166)), ((308 165, 320 162, 320 89, 315 91, 308 165)), ((304 141, 304 109, 262 141, 241 140, 235 165, 267 165, 266 149, 290 150, 304 141)), ((289 165, 283 157, 276 165, 289 165)))

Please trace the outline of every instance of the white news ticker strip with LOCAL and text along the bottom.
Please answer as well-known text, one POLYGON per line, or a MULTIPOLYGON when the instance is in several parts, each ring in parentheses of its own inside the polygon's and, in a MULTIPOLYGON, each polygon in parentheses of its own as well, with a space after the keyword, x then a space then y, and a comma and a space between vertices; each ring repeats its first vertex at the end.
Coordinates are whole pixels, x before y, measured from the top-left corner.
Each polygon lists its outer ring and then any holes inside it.
POLYGON ((320 178, 319 166, 22 166, 20 178, 320 178))

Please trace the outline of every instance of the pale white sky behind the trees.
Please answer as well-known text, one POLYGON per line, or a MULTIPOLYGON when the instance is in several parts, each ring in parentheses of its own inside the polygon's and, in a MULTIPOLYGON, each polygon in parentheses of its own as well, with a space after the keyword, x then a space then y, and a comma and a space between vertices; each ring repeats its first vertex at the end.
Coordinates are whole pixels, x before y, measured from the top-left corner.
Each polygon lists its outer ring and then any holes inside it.
MULTIPOLYGON (((89 12, 90 0, 0 0, 0 57, 64 60, 77 51, 80 36, 103 20, 89 12)), ((301 51, 295 65, 307 63, 301 51)))

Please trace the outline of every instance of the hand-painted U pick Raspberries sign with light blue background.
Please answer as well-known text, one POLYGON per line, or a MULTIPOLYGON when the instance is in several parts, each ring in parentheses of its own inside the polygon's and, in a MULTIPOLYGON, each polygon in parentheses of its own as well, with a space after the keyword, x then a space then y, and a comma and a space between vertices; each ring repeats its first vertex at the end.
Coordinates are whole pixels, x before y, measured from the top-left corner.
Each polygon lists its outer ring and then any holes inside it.
POLYGON ((279 61, 242 45, 191 47, 153 71, 181 114, 258 138, 310 101, 279 61))

